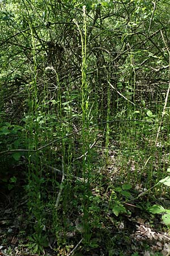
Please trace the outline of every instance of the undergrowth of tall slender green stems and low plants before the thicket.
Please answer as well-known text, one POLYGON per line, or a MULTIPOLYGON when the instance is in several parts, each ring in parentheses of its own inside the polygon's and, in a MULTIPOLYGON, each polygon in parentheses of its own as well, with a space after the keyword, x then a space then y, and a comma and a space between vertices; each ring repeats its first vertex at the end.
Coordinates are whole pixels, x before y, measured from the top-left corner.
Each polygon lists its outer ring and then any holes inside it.
MULTIPOLYGON (((125 218, 129 220, 135 213, 142 217, 165 213, 162 220, 169 229, 168 205, 161 200, 168 199, 169 192, 169 88, 167 97, 156 104, 142 96, 139 102, 134 100, 135 93, 140 94, 134 66, 138 52, 131 48, 114 72, 120 82, 113 83, 111 67, 105 65, 104 81, 100 81, 101 67, 97 65, 104 55, 98 56, 97 63, 88 51, 86 6, 71 23, 79 39, 79 80, 74 81, 74 72, 60 80, 62 60, 52 59, 49 64, 45 55, 37 55, 40 38, 35 37, 35 26, 25 10, 31 38, 32 63, 27 70, 31 80, 24 84, 21 118, 8 119, 8 101, 1 103, 0 128, 1 183, 10 191, 22 179, 27 197, 24 246, 39 254, 50 247, 57 255, 71 255, 74 248, 78 256, 91 250, 124 255, 130 243, 124 227, 120 228, 125 218), (94 63, 97 73, 91 77, 94 63), (121 236, 125 241, 122 251, 121 236)), ((51 31, 45 29, 41 36, 49 39, 51 31)), ((59 44, 55 47, 58 55, 65 51, 59 44)), ((109 53, 105 61, 110 58, 109 53)), ((2 98, 3 93, 1 88, 2 98)))

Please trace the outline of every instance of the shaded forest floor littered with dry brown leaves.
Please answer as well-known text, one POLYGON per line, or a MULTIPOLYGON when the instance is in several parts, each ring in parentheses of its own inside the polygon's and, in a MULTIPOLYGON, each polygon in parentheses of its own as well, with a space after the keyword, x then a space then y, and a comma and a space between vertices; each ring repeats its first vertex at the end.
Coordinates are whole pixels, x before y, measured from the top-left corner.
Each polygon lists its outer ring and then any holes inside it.
MULTIPOLYGON (((111 155, 108 166, 102 168, 100 172, 103 177, 107 174, 109 182, 117 181, 118 183, 121 174, 119 168, 116 167, 115 157, 111 155)), ((95 184, 93 186, 95 187, 95 184)), ((97 241, 97 246, 87 249, 87 246, 82 243, 81 234, 76 233, 69 238, 70 244, 73 245, 70 251, 65 251, 62 247, 57 249, 57 242, 53 240, 49 243, 49 247, 44 248, 41 255, 170 255, 170 236, 168 229, 162 223, 161 216, 158 214, 151 216, 144 207, 147 202, 155 204, 155 197, 150 193, 136 197, 141 187, 142 184, 138 184, 131 191, 134 199, 124 203, 125 214, 113 216, 111 210, 108 210, 107 214, 101 210, 102 227, 99 230, 97 228, 92 230, 92 239, 97 241), (103 235, 99 236, 99 233, 103 235), (108 237, 109 250, 106 249, 108 237)), ((101 194, 101 191, 99 193, 101 194)), ((5 191, 1 187, 0 198, 0 255, 37 255, 33 253, 28 243, 26 231, 28 199, 23 187, 13 187, 10 191, 5 191)), ((103 195, 104 202, 105 198, 106 195, 103 195)), ((73 215, 73 218, 76 218, 75 213, 73 215)))

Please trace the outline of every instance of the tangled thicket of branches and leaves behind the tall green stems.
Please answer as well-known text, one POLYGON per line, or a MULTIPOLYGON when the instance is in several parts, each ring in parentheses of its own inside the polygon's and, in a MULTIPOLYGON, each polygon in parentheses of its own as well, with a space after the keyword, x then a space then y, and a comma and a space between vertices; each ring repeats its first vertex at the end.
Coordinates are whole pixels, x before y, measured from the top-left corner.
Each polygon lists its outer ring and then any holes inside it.
POLYGON ((168 2, 3 1, 1 111, 5 111, 13 122, 27 112, 25 101, 27 86, 33 76, 33 51, 39 101, 47 84, 46 100, 57 96, 58 81, 62 93, 70 84, 73 90, 79 92, 82 65, 80 31, 84 34, 84 4, 87 15, 86 77, 92 92, 91 101, 94 101, 95 95, 101 119, 107 108, 108 86, 112 85, 113 112, 117 111, 118 98, 122 104, 126 101, 121 94, 135 104, 140 95, 144 94, 146 98, 152 91, 161 94, 166 89, 169 67, 168 2))

